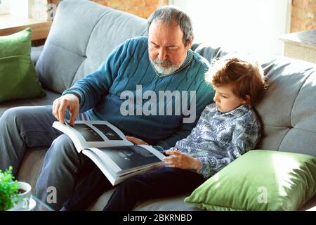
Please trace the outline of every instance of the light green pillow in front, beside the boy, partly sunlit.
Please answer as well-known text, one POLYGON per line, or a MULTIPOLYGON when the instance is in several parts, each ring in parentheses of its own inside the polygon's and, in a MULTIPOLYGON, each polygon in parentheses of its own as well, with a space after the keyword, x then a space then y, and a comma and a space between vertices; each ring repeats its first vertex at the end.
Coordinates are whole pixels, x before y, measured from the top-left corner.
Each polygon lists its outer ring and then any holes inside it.
POLYGON ((185 198, 203 210, 298 210, 316 192, 316 157, 251 150, 185 198))

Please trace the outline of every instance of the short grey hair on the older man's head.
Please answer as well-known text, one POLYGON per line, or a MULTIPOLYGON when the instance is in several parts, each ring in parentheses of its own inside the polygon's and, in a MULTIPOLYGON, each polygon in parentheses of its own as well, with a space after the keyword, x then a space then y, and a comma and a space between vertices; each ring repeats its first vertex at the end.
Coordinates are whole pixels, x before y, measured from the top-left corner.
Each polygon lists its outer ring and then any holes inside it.
POLYGON ((193 37, 193 28, 189 15, 175 6, 161 6, 157 8, 157 10, 150 15, 150 18, 148 18, 148 31, 152 21, 159 21, 166 25, 169 25, 169 23, 176 23, 176 25, 179 25, 183 32, 183 44, 185 46, 187 46, 193 37))

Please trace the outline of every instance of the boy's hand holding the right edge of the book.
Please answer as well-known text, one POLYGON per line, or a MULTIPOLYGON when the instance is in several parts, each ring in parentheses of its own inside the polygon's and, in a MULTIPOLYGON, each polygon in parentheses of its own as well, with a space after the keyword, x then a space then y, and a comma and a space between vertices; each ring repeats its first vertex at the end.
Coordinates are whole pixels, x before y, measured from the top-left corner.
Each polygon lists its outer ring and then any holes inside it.
POLYGON ((185 153, 180 153, 177 150, 166 150, 165 153, 171 155, 164 158, 164 162, 169 167, 179 169, 200 169, 202 167, 202 163, 198 159, 192 158, 185 153))

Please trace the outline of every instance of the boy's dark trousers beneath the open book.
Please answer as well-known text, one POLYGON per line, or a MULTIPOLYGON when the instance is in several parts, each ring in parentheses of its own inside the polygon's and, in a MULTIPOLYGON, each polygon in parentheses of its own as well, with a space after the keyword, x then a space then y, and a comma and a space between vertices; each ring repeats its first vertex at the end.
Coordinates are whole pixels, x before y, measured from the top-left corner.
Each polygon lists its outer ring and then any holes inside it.
MULTIPOLYGON (((118 184, 105 211, 133 210, 138 202, 173 195, 190 195, 205 181, 204 177, 187 169, 162 167, 126 179, 118 184)), ((104 191, 112 188, 100 169, 96 168, 72 193, 64 210, 85 210, 104 191)))

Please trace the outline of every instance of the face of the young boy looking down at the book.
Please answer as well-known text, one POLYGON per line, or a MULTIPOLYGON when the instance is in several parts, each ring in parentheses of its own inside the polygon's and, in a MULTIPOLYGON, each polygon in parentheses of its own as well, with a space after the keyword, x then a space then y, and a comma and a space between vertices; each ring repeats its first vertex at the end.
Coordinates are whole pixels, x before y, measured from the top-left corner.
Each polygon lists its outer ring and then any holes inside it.
POLYGON ((232 93, 232 84, 221 84, 214 86, 216 91, 213 100, 216 103, 216 108, 221 113, 227 113, 235 110, 240 105, 245 104, 246 101, 232 93))

